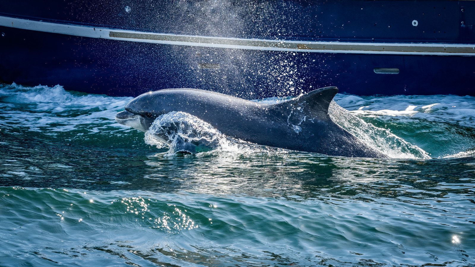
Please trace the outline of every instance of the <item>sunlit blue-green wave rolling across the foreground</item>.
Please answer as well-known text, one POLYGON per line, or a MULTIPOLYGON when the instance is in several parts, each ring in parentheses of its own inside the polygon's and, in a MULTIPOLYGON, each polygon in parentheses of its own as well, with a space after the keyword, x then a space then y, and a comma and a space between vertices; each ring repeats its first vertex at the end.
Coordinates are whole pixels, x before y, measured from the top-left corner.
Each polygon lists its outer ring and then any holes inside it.
POLYGON ((460 266, 474 258, 473 210, 457 205, 466 197, 456 193, 307 199, 0 187, 0 196, 10 266, 104 258, 114 266, 460 266), (407 257, 387 257, 395 252, 407 257))

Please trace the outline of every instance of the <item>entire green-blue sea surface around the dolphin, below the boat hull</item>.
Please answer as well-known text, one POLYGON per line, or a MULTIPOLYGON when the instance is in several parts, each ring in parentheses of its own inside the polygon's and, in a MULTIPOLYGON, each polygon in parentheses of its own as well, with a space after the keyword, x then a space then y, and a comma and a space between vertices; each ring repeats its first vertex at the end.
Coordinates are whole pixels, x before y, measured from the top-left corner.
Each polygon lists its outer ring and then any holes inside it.
MULTIPOLYGON (((475 266, 475 97, 335 97, 387 159, 235 140, 131 97, 0 86, 0 266, 475 266), (177 153, 153 134, 206 143, 177 153)), ((270 98, 270 103, 287 99, 270 98)))

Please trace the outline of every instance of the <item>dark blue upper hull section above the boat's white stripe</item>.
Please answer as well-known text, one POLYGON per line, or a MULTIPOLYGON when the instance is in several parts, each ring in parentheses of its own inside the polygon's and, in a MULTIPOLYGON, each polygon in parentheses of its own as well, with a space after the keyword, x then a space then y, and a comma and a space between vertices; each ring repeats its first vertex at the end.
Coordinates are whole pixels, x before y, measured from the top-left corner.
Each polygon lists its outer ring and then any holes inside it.
POLYGON ((227 38, 475 43, 473 0, 0 0, 0 15, 227 38))

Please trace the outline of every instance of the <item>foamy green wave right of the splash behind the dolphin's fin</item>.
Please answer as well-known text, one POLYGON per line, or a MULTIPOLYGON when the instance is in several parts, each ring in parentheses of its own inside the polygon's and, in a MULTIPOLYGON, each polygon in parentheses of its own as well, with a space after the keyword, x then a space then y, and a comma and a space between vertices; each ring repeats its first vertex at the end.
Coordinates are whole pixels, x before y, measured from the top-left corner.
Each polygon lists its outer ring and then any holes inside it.
POLYGON ((405 138, 417 142, 433 157, 474 155, 472 151, 475 146, 475 97, 473 96, 339 94, 335 96, 335 100, 359 118, 382 123, 390 122, 399 133, 404 132, 405 138), (403 129, 405 125, 408 125, 407 129, 403 129))

